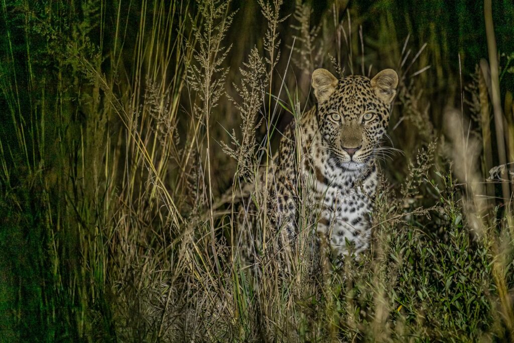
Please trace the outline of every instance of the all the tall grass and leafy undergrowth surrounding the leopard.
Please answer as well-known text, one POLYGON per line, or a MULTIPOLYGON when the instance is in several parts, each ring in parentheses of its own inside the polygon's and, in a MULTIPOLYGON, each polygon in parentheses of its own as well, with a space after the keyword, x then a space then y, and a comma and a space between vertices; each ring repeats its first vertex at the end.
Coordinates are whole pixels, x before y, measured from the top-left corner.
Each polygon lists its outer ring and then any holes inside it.
POLYGON ((1 341, 514 339, 511 2, 1 13, 1 341), (314 104, 318 67, 397 70, 383 144, 402 153, 380 159, 371 251, 312 273, 306 241, 294 278, 254 279, 230 204, 314 104))

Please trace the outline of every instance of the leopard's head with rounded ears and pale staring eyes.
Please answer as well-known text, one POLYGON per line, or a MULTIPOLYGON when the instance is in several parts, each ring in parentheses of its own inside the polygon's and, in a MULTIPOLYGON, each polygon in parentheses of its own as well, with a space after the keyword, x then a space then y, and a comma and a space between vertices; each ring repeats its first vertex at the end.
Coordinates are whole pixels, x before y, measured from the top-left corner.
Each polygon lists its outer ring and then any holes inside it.
POLYGON ((398 75, 384 69, 371 80, 355 75, 338 80, 328 70, 316 69, 312 85, 322 149, 339 167, 362 169, 386 134, 398 75))

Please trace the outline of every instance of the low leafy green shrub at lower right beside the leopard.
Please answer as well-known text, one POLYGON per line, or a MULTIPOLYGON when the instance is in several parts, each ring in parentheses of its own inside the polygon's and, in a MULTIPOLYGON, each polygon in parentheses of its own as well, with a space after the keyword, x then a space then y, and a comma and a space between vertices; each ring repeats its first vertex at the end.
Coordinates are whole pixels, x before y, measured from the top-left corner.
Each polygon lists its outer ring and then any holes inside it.
POLYGON ((465 213, 451 173, 439 176, 445 187, 436 188, 441 203, 429 222, 390 233, 390 268, 398 268, 394 297, 415 336, 475 340, 492 320, 491 253, 484 241, 463 230, 465 213), (433 231, 434 222, 443 232, 433 231))

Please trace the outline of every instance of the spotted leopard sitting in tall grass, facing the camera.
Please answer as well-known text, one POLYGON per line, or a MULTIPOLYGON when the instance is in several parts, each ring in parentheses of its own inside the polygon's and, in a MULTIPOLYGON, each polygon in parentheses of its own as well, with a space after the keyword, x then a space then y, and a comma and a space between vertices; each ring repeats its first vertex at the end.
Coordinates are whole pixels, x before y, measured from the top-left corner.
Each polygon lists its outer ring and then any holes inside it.
MULTIPOLYGON (((397 85, 393 69, 371 79, 313 71, 315 105, 286 127, 277 153, 261 168, 238 211, 243 260, 255 263, 266 246, 290 254, 302 230, 315 237, 317 248, 325 242, 334 260, 358 258, 370 247, 377 157, 397 85), (302 222, 305 207, 317 209, 307 224, 302 222)), ((290 263, 285 261, 290 259, 279 263, 290 263)))

